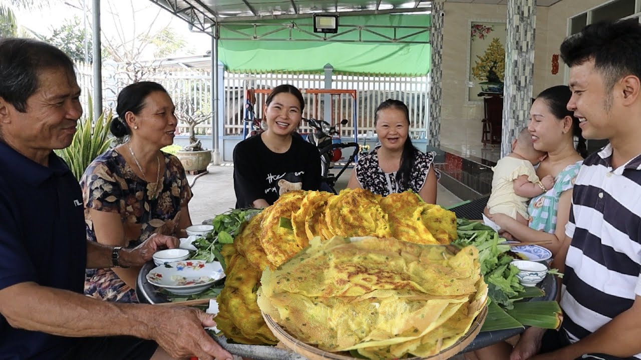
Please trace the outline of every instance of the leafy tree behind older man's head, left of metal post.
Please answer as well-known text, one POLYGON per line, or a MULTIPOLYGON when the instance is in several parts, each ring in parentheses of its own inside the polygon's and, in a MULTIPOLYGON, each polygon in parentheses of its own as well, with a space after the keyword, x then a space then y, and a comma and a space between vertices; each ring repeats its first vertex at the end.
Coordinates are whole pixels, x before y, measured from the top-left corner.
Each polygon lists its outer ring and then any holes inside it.
POLYGON ((48 42, 69 55, 74 61, 93 62, 91 35, 83 27, 82 20, 74 16, 58 28, 51 29, 51 35, 35 34, 40 40, 48 42), (85 47, 87 40, 87 47, 85 47), (88 51, 87 51, 88 49, 88 51))

